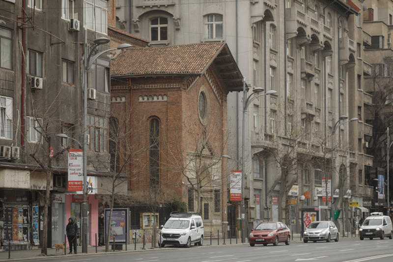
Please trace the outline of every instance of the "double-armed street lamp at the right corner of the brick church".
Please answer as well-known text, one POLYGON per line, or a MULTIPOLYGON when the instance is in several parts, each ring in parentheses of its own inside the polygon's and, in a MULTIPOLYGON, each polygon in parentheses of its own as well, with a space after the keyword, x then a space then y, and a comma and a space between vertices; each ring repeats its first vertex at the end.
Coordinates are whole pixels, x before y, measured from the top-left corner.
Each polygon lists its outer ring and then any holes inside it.
POLYGON ((253 92, 247 96, 247 92, 249 90, 249 87, 246 87, 246 78, 243 78, 243 119, 242 119, 242 186, 241 186, 241 195, 242 195, 242 199, 240 202, 240 214, 241 214, 241 219, 242 219, 242 231, 241 231, 241 239, 242 239, 242 243, 244 243, 244 219, 245 219, 245 210, 244 210, 244 140, 245 140, 245 129, 246 129, 246 111, 248 106, 251 104, 251 102, 253 102, 254 99, 260 97, 260 96, 264 96, 264 95, 270 95, 270 94, 275 94, 277 93, 276 90, 269 90, 266 93, 263 94, 258 94, 262 91, 264 91, 264 88, 262 87, 255 87, 253 88, 253 92), (253 96, 253 94, 258 94, 256 96, 254 96, 253 98, 251 98, 251 96, 253 96))

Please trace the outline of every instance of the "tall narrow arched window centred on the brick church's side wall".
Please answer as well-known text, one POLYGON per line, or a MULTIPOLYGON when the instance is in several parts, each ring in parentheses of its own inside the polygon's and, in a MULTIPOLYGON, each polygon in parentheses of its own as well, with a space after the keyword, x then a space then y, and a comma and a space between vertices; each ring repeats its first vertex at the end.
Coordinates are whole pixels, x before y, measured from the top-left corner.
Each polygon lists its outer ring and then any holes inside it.
POLYGON ((149 146, 150 185, 157 186, 160 183, 160 122, 157 118, 150 120, 149 146))

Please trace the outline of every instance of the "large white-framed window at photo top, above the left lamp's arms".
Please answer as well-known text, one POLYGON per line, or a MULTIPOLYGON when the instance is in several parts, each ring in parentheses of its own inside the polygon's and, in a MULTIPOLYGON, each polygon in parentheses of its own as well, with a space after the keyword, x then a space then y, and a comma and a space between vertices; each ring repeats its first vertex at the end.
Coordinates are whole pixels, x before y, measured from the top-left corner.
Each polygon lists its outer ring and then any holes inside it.
POLYGON ((107 33, 108 1, 84 0, 84 26, 101 33, 107 33))

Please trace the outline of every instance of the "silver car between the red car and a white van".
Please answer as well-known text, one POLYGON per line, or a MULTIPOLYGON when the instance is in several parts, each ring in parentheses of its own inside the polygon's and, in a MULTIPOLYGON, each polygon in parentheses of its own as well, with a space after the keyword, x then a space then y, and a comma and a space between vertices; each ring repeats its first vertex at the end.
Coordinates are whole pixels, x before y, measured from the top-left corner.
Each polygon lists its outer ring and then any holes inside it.
POLYGON ((312 222, 303 233, 303 242, 305 243, 309 241, 330 242, 331 239, 338 242, 338 230, 335 223, 332 221, 312 222))

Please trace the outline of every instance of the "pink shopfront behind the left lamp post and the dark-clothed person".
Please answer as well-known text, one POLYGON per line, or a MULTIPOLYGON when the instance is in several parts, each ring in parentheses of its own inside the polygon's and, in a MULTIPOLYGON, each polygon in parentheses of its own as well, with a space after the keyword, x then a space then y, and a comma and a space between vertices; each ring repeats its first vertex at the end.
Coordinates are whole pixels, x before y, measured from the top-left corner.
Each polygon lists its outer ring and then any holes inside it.
MULTIPOLYGON (((87 243, 89 243, 91 246, 95 246, 96 234, 98 241, 98 199, 96 199, 94 194, 91 194, 88 195, 87 200, 87 243)), ((82 233, 82 202, 82 194, 66 195, 66 221, 68 223, 69 217, 75 217, 80 233, 82 233)), ((81 241, 81 238, 79 238, 78 241, 81 241)))

